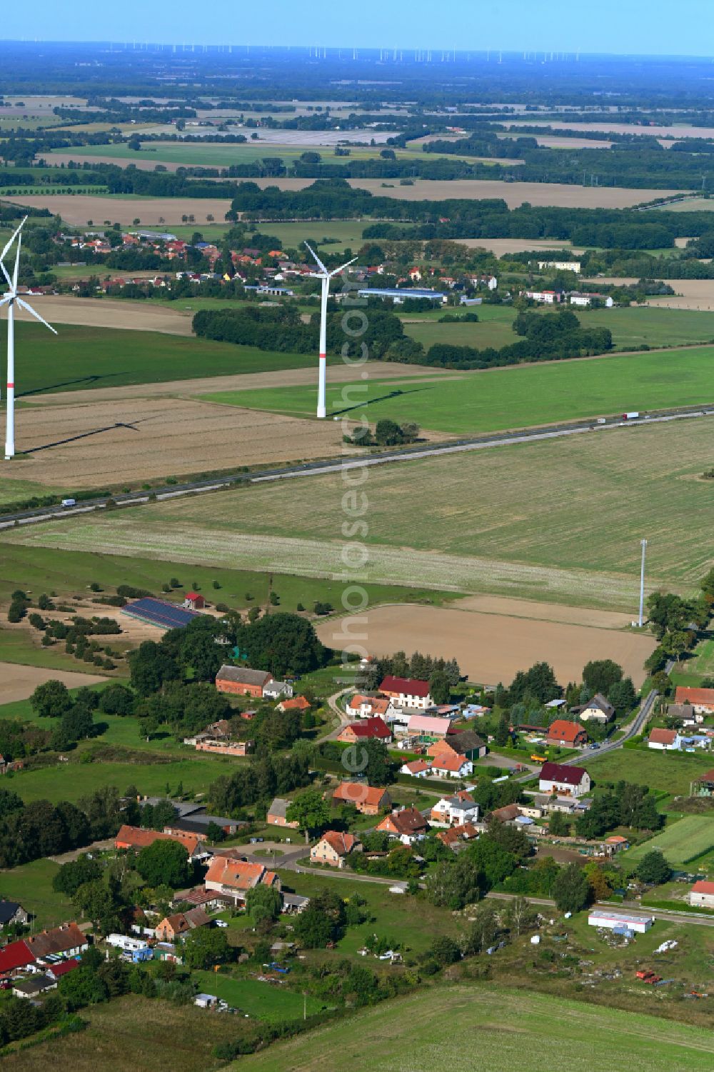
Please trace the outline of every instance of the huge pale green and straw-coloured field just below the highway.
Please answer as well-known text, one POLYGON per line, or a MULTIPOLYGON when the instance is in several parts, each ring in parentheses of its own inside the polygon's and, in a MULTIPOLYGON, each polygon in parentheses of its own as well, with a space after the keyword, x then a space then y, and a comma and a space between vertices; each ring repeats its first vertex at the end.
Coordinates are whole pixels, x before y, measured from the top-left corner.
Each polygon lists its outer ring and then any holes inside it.
MULTIPOLYGON (((639 540, 646 532, 648 587, 694 591, 711 566, 711 489, 697 479, 709 463, 710 441, 709 426, 699 419, 371 470, 367 579, 631 615, 639 540), (405 480, 419 488, 419 496, 395 510, 405 480), (603 518, 616 523, 603 524, 603 518)), ((341 575, 340 475, 280 485, 150 504, 106 518, 66 518, 6 531, 1 538, 33 549, 101 547, 107 554, 211 568, 341 575)))

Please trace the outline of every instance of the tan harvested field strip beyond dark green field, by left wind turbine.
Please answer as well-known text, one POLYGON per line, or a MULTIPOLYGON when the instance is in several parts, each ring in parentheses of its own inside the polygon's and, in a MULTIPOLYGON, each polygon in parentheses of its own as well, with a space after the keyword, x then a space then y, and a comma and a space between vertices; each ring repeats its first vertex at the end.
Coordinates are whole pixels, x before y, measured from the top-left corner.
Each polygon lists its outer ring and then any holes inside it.
MULTIPOLYGON (((192 336, 191 315, 148 301, 111 301, 108 298, 75 298, 71 295, 43 294, 31 302, 50 324, 80 324, 91 328, 121 328, 129 331, 161 331, 164 334, 192 336)), ((18 310, 20 321, 35 323, 29 313, 18 310)))

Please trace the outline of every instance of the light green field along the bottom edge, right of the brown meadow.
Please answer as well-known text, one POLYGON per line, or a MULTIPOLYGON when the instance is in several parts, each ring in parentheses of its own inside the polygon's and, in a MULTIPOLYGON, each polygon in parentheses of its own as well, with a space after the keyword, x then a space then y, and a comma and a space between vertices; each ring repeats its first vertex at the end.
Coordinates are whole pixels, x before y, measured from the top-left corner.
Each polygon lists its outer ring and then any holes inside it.
POLYGON ((714 1037, 655 1016, 598 1008, 491 984, 444 985, 359 1013, 354 1019, 241 1057, 261 1072, 541 1072, 605 1067, 623 1072, 709 1072, 714 1037), (475 1058, 475 1054, 478 1055, 475 1058))

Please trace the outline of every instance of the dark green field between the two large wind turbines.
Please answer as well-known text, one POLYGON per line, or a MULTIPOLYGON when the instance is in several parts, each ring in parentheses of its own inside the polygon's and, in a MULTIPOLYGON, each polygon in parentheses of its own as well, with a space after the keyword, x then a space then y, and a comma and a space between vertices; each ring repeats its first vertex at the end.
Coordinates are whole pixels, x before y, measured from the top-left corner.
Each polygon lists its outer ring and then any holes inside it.
MULTIPOLYGON (((130 315, 133 313, 128 313, 130 315)), ((4 347, 4 331, 3 325, 0 348, 4 347)), ((44 391, 301 369, 313 361, 310 355, 269 354, 252 346, 157 331, 63 324, 57 338, 49 343, 47 331, 41 325, 18 324, 15 332, 18 352, 20 347, 23 352, 21 374, 18 369, 19 399, 44 391)))

